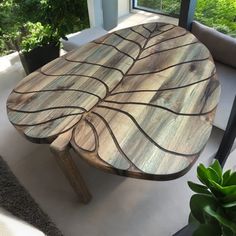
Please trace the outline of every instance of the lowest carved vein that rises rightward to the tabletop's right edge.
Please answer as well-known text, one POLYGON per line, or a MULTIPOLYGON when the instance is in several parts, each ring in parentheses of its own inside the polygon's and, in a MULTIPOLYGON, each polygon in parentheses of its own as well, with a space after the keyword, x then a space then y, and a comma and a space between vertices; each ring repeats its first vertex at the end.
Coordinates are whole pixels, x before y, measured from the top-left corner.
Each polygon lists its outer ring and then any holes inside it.
POLYGON ((139 92, 158 92, 158 91, 161 92, 161 91, 167 91, 167 90, 175 90, 175 89, 186 88, 186 87, 189 87, 189 86, 192 86, 192 85, 195 85, 195 84, 207 81, 207 80, 211 79, 215 75, 216 75, 216 71, 214 70, 213 74, 211 74, 209 77, 207 77, 205 79, 202 79, 202 80, 198 80, 198 81, 190 83, 190 84, 181 85, 181 86, 178 86, 178 87, 165 88, 165 89, 149 89, 149 90, 148 89, 139 89, 139 90, 121 91, 121 92, 112 93, 112 94, 109 95, 109 97, 110 96, 115 96, 117 94, 139 93, 139 92))

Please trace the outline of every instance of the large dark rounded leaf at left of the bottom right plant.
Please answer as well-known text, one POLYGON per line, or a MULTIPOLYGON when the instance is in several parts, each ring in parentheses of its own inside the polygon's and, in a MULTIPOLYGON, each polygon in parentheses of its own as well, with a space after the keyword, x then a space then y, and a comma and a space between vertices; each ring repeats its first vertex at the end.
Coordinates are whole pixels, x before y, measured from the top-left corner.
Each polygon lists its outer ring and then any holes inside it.
POLYGON ((207 206, 210 206, 212 209, 217 209, 217 202, 212 196, 205 194, 194 194, 190 199, 191 213, 193 217, 201 224, 206 223, 204 209, 207 206))

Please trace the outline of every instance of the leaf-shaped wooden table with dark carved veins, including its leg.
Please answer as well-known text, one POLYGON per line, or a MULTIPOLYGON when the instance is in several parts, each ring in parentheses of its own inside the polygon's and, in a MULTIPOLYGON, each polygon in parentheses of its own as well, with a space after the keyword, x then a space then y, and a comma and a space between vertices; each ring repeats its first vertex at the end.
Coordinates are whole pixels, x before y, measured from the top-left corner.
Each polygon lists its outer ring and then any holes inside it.
POLYGON ((30 74, 7 109, 29 140, 51 143, 87 202, 68 147, 115 174, 180 177, 210 136, 219 93, 207 48, 183 28, 150 23, 108 34, 30 74))

